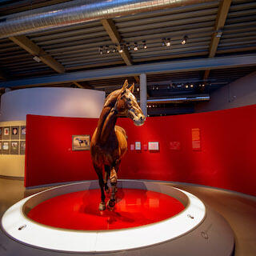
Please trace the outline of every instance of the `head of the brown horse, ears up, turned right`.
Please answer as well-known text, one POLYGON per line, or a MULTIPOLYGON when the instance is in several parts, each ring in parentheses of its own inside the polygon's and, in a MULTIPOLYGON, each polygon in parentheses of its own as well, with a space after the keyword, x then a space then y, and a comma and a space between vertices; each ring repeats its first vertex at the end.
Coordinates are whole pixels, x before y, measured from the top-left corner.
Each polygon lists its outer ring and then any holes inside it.
POLYGON ((118 116, 132 119, 135 126, 142 126, 146 117, 142 113, 140 106, 138 106, 138 102, 133 93, 134 83, 128 88, 128 81, 126 80, 115 102, 114 111, 116 111, 118 116))

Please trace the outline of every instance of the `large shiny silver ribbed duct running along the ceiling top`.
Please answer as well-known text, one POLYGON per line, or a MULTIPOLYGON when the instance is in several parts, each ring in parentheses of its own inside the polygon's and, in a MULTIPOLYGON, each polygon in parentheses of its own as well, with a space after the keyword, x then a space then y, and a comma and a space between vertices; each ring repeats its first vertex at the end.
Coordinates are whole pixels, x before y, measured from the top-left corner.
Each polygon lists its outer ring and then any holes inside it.
POLYGON ((213 0, 75 0, 0 18, 0 38, 213 0))

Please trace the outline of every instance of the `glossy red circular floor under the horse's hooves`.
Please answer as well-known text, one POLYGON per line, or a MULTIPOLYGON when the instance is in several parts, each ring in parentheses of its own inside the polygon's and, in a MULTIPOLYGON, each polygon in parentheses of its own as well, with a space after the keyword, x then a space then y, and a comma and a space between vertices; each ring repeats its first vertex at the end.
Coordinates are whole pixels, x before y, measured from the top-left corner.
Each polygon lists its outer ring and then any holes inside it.
POLYGON ((159 222, 184 210, 177 199, 148 190, 119 188, 113 211, 99 211, 100 198, 100 190, 62 194, 35 206, 28 217, 63 229, 117 230, 159 222))

